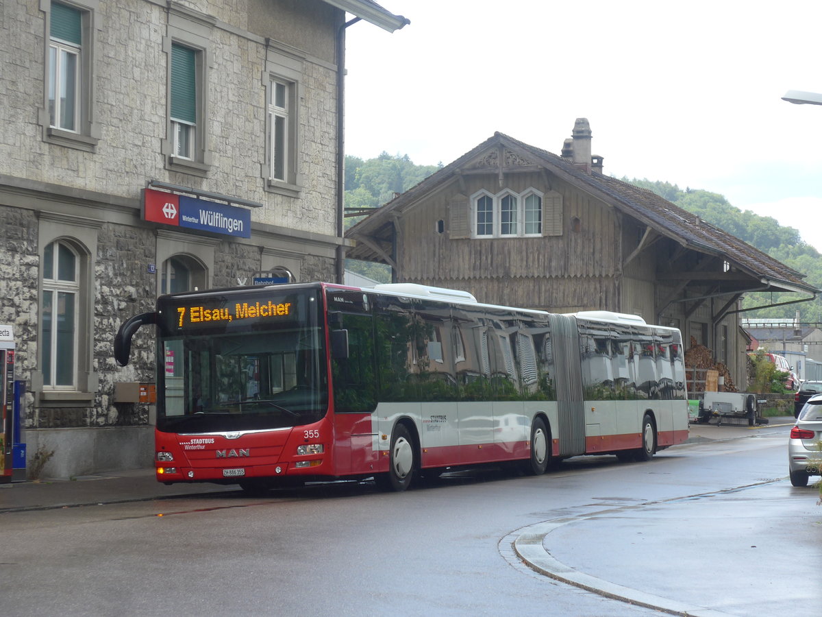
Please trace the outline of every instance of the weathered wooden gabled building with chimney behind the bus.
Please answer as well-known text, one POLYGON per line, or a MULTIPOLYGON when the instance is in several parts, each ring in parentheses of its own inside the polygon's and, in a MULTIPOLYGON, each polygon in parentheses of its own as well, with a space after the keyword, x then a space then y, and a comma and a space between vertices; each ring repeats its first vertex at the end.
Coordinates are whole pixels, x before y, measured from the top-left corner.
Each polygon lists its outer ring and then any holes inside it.
POLYGON ((558 156, 495 133, 354 225, 348 257, 480 302, 635 313, 679 327, 746 383, 742 295, 812 299, 818 290, 663 197, 604 175, 586 118, 572 134, 558 156))

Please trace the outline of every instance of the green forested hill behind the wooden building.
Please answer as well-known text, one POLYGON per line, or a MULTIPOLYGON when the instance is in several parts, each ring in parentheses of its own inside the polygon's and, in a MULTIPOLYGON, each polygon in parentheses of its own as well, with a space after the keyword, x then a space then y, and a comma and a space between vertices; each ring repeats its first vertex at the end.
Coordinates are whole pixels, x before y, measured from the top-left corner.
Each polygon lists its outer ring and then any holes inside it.
MULTIPOLYGON (((346 156, 346 229, 362 219, 362 216, 352 215, 367 211, 368 208, 382 206, 389 202, 395 193, 404 193, 441 167, 442 164, 414 165, 408 155, 389 155, 387 152, 383 152, 376 159, 367 160, 356 156, 346 156)), ((751 246, 759 248, 760 251, 768 253, 786 266, 805 274, 805 281, 810 285, 822 288, 820 253, 801 239, 798 230, 783 227, 769 216, 759 216, 749 210, 741 211, 718 193, 692 188, 681 189, 676 184, 651 182, 647 179, 622 178, 622 180, 641 188, 647 188, 680 206, 683 210, 699 215, 702 220, 707 220, 711 225, 716 225, 751 246)), ((384 267, 353 260, 349 260, 347 267, 377 281, 388 282, 390 280, 390 272, 384 267)), ((797 299, 797 295, 749 294, 746 295, 745 306, 761 306, 792 299, 797 299)), ((803 322, 822 322, 822 299, 783 307, 765 308, 744 313, 744 315, 746 317, 788 319, 793 318, 797 310, 803 322)))

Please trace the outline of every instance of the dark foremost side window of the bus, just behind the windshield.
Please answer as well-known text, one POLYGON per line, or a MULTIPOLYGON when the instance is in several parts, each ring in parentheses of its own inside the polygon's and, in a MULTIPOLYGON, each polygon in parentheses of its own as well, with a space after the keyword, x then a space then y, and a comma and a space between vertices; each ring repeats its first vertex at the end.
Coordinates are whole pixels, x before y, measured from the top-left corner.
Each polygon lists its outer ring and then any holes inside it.
POLYGON ((331 360, 335 411, 370 413, 376 408, 372 317, 346 314, 342 326, 349 333, 349 357, 331 360))

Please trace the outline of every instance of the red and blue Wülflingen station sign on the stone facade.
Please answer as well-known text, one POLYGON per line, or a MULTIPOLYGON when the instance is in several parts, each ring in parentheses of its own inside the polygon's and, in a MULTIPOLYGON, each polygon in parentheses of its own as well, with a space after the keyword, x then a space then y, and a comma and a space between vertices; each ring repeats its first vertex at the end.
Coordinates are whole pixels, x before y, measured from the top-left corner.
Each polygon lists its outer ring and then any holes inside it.
POLYGON ((143 218, 154 223, 252 237, 252 213, 244 208, 151 188, 143 191, 143 206, 143 218))

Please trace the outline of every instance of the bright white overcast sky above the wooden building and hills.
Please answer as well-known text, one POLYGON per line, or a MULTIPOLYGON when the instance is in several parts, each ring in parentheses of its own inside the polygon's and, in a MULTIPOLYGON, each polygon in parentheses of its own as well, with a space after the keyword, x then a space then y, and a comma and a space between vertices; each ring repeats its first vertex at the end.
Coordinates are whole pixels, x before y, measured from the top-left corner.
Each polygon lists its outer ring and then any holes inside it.
POLYGON ((588 118, 617 178, 721 193, 822 250, 822 2, 379 0, 347 39, 346 153, 448 164, 495 131, 555 154, 588 118))

